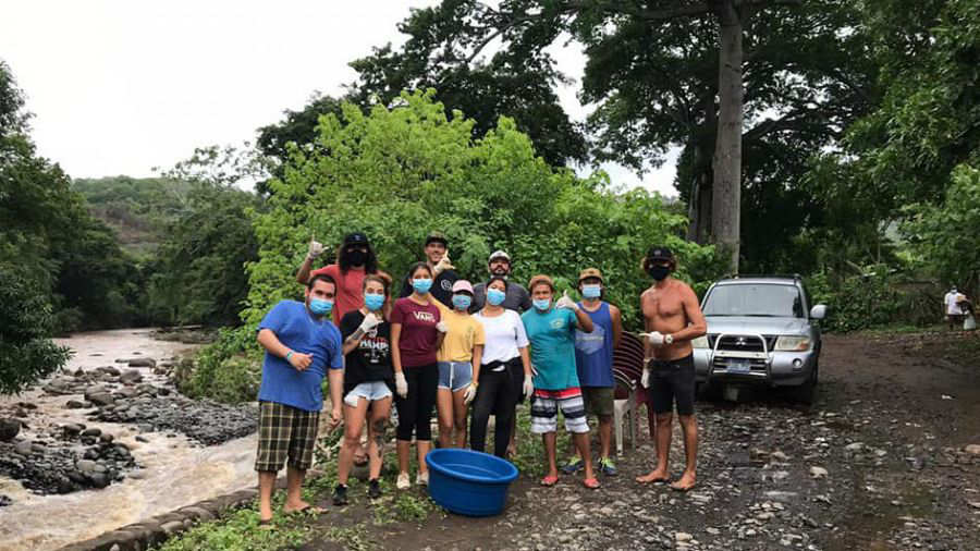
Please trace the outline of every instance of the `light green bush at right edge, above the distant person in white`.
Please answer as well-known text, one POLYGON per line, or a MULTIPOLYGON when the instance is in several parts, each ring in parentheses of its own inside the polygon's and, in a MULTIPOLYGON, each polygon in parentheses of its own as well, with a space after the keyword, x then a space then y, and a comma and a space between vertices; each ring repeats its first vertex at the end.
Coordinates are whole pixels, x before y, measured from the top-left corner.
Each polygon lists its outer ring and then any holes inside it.
POLYGON ((942 204, 910 205, 904 212, 909 217, 903 232, 910 249, 943 282, 976 298, 980 292, 980 170, 958 167, 942 204))

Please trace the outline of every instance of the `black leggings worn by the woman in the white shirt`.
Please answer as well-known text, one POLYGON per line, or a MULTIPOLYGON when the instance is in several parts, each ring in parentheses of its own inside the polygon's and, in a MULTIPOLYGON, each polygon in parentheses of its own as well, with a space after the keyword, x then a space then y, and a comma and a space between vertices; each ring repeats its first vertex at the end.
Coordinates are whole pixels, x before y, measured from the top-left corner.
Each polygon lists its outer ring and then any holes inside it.
POLYGON ((469 424, 469 448, 482 452, 487 445, 487 423, 490 414, 497 416, 493 429, 493 455, 507 457, 511 442, 511 419, 517 406, 514 381, 510 367, 502 371, 491 371, 488 366, 480 369, 479 387, 473 402, 473 418, 469 424))

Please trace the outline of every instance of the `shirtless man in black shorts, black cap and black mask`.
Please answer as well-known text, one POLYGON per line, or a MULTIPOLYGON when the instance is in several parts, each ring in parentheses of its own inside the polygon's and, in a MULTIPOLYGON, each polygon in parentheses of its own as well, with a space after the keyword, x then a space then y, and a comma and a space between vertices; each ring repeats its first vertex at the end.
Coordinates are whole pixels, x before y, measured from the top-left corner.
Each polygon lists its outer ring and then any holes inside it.
POLYGON ((671 453, 671 421, 674 402, 684 433, 687 465, 681 479, 671 485, 687 491, 696 482, 698 457, 698 423, 694 415, 695 368, 690 341, 707 331, 705 315, 695 292, 683 281, 671 277, 677 261, 663 246, 650 247, 642 261, 644 270, 653 278, 650 289, 640 295, 645 341, 645 363, 641 383, 647 389, 648 404, 657 414, 657 468, 637 477, 641 483, 667 482, 667 460, 671 453))

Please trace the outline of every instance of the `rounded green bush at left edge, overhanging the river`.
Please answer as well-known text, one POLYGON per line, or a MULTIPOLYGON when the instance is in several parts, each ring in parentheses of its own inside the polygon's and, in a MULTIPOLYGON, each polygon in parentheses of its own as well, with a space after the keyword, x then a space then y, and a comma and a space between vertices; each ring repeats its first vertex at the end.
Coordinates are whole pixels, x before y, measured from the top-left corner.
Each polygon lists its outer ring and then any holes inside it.
POLYGON ((20 392, 68 362, 69 348, 48 339, 53 322, 45 290, 0 262, 0 394, 20 392))

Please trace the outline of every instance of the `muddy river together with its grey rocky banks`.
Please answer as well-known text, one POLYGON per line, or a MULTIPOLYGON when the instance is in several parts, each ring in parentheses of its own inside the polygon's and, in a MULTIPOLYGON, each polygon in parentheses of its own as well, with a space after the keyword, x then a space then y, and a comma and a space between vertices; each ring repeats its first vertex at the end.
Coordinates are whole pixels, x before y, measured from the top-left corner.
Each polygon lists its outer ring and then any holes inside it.
POLYGON ((0 418, 0 550, 49 550, 255 483, 254 406, 181 396, 169 380, 197 345, 150 329, 58 339, 66 368, 0 418))

